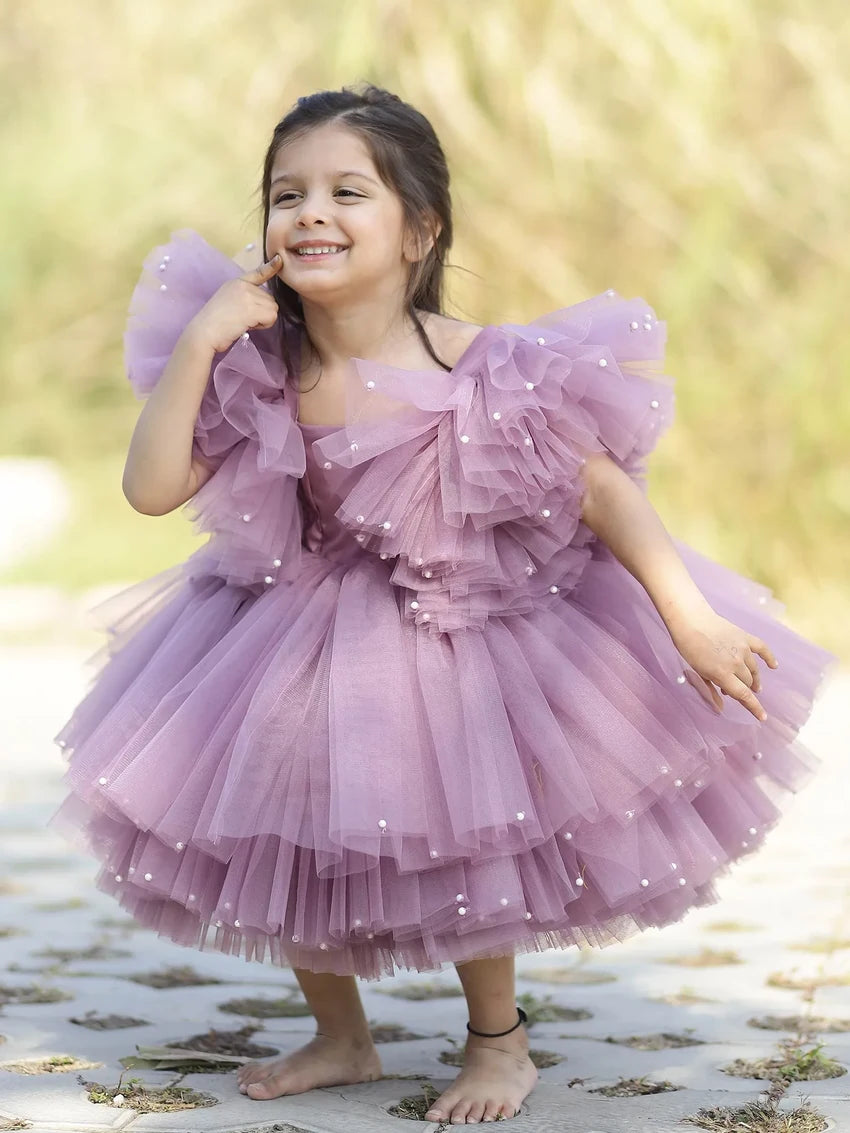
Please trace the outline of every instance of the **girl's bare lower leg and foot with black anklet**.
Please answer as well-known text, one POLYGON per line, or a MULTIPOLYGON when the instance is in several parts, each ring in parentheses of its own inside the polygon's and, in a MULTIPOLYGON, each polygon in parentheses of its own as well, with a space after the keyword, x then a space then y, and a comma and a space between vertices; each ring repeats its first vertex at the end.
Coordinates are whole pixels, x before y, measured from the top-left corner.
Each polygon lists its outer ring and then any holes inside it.
MULTIPOLYGON (((469 1022, 477 1031, 504 1031, 517 1021, 513 956, 457 964, 469 1022)), ((467 1125, 516 1117, 537 1082, 525 1026, 500 1039, 469 1034, 464 1068, 425 1115, 426 1121, 467 1125)))

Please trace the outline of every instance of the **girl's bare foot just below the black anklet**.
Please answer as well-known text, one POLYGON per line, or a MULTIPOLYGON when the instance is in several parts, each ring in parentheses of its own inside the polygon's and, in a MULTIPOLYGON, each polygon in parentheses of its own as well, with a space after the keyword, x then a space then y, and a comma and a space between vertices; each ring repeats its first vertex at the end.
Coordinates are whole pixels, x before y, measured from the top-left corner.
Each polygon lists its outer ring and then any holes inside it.
POLYGON ((430 1122, 471 1125, 516 1117, 537 1083, 537 1067, 528 1057, 528 1034, 518 1026, 500 1039, 469 1034, 464 1068, 425 1114, 430 1122))

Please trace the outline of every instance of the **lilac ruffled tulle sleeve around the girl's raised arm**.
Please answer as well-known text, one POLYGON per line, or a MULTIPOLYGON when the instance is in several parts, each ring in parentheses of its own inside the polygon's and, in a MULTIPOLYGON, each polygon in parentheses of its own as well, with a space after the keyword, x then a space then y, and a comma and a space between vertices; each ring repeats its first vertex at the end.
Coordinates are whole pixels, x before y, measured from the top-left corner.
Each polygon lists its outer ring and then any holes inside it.
MULTIPOLYGON (((150 253, 125 332, 137 397, 151 393, 187 323, 244 271, 192 229, 150 253)), ((286 398, 279 335, 279 324, 252 330, 213 357, 193 454, 215 475, 185 505, 198 531, 212 535, 193 566, 255 588, 295 577, 300 563, 297 479, 306 461, 286 398)))

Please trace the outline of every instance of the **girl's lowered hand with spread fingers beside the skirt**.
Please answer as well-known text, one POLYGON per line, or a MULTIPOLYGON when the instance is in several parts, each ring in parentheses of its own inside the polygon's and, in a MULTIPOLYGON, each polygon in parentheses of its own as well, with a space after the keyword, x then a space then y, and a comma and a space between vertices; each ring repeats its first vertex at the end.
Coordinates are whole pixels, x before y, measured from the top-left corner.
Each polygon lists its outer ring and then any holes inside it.
POLYGON ((779 662, 760 638, 711 608, 675 619, 668 629, 673 645, 694 667, 719 712, 723 710, 723 700, 715 684, 721 692, 739 700, 757 719, 767 719, 767 713, 755 696, 762 691, 755 654, 771 668, 777 668, 779 662))

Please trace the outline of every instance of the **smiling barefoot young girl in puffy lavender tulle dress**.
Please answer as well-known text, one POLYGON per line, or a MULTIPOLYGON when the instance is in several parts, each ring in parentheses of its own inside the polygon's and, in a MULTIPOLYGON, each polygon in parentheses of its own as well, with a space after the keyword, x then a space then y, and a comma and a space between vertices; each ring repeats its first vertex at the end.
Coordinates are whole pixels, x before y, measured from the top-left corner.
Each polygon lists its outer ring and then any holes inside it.
POLYGON ((292 966, 316 1036, 248 1097, 379 1077, 355 977, 451 961, 466 1063, 427 1116, 511 1117, 515 954, 715 901, 813 772, 838 658, 649 504, 673 393, 643 299, 442 314, 420 113, 299 99, 262 199, 258 267, 184 230, 133 296, 124 491, 211 538, 105 604, 52 821, 143 925, 292 966))

